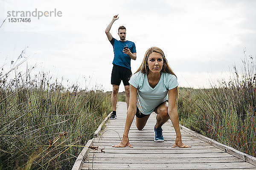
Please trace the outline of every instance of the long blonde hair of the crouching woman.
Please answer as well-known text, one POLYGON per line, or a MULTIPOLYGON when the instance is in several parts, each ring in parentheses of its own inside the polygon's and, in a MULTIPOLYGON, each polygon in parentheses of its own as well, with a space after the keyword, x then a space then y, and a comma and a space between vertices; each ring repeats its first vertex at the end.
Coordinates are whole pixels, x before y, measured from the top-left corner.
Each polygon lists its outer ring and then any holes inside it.
MULTIPOLYGON (((168 65, 167 59, 166 59, 163 51, 160 48, 158 48, 158 47, 148 48, 148 50, 145 53, 145 56, 143 58, 143 61, 142 61, 141 65, 140 65, 140 67, 138 68, 138 70, 135 73, 137 73, 139 71, 141 71, 141 73, 143 73, 143 74, 148 74, 149 73, 148 56, 149 56, 149 54, 151 54, 153 52, 159 53, 163 57, 163 68, 162 68, 161 72, 175 75, 174 72, 172 71, 172 68, 170 68, 170 66, 168 65)), ((177 78, 176 75, 175 75, 175 77, 177 78)), ((176 90, 176 108, 177 108, 178 92, 179 92, 179 90, 178 90, 178 87, 176 89, 177 89, 176 90)))

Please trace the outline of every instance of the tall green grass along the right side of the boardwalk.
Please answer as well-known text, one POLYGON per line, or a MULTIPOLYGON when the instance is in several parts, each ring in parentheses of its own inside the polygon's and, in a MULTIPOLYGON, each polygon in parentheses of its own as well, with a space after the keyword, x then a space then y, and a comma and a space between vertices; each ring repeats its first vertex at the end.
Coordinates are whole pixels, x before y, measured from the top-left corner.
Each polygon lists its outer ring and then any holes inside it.
POLYGON ((244 54, 243 68, 210 89, 181 89, 181 122, 209 138, 256 156, 256 62, 244 54))

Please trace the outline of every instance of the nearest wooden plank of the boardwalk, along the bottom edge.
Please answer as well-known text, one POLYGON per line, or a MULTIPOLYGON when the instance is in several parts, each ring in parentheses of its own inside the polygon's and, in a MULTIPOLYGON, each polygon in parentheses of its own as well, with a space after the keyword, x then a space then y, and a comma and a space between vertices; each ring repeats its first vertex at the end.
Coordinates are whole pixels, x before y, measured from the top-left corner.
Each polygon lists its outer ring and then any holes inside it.
MULTIPOLYGON (((91 167, 92 164, 84 163, 82 170, 88 170, 88 167, 91 167)), ((236 162, 236 168, 255 168, 250 163, 247 162, 236 162)), ((133 163, 115 163, 115 164, 106 164, 106 163, 93 163, 93 170, 198 170, 198 169, 233 169, 233 162, 221 162, 221 163, 148 163, 148 164, 133 164, 133 163)))

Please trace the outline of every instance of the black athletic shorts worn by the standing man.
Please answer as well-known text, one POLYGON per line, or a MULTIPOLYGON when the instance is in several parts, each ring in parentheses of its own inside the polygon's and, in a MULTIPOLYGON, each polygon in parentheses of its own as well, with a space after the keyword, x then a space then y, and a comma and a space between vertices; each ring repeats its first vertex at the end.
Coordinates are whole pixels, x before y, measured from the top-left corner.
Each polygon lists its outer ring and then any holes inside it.
POLYGON ((120 85, 121 80, 124 85, 130 85, 129 80, 131 78, 131 70, 126 67, 113 64, 111 74, 111 85, 120 85))

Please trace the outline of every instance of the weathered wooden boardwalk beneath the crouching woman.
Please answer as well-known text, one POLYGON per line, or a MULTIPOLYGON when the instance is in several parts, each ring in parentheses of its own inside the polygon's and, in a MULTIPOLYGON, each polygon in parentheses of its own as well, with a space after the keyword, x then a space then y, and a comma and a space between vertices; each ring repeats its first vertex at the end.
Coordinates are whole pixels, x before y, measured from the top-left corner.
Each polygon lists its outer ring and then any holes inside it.
POLYGON ((104 148, 90 150, 82 170, 256 170, 256 166, 190 135, 181 129, 183 143, 191 148, 172 148, 175 130, 171 122, 163 125, 164 142, 154 142, 156 114, 152 113, 143 130, 137 130, 135 118, 129 132, 133 148, 115 148, 125 127, 126 103, 119 102, 117 119, 109 120, 102 136, 93 139, 93 146, 104 148))

